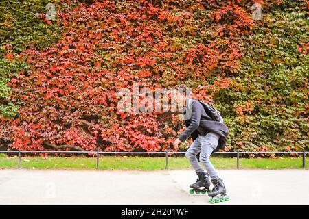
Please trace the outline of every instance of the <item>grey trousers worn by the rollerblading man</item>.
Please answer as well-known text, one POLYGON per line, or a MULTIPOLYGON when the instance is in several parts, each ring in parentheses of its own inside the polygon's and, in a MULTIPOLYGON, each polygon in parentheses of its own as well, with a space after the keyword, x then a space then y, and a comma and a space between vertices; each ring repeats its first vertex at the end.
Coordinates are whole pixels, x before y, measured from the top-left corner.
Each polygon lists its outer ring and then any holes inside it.
POLYGON ((218 145, 219 138, 220 136, 218 134, 212 132, 207 133, 206 136, 198 136, 198 138, 194 140, 190 148, 187 149, 187 152, 185 153, 185 157, 189 159, 189 162, 194 170, 196 172, 204 172, 203 168, 201 168, 200 164, 198 164, 198 159, 196 158, 198 152, 201 152, 200 162, 206 168, 211 179, 219 179, 218 173, 209 160, 212 151, 214 151, 218 145))

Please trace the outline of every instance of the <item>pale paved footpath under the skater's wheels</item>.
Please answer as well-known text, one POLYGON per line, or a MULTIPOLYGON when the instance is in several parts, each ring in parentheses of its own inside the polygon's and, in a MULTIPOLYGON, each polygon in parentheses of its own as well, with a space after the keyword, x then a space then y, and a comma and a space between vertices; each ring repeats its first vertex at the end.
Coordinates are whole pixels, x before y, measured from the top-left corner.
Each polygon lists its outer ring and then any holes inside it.
MULTIPOLYGON (((309 205, 309 170, 218 170, 231 201, 309 205)), ((0 170, 0 205, 211 205, 192 170, 0 170)))

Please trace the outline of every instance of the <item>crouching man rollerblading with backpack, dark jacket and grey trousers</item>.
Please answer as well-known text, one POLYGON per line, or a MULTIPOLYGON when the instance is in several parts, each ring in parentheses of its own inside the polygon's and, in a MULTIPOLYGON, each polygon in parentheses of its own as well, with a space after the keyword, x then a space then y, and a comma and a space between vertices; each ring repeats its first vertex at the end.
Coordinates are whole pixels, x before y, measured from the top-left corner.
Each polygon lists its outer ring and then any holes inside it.
MULTIPOLYGON (((209 196, 211 196, 210 203, 228 201, 229 198, 226 196, 225 185, 216 172, 216 169, 211 164, 209 157, 214 151, 225 148, 229 129, 223 123, 220 112, 214 109, 214 107, 190 98, 191 94, 187 86, 176 86, 176 90, 178 91, 177 101, 185 108, 183 114, 185 116, 185 125, 187 129, 174 141, 174 148, 177 149, 178 145, 181 142, 185 142, 191 135, 194 142, 189 149, 187 149, 185 156, 198 175, 198 181, 194 184, 201 185, 207 182, 207 177, 209 176, 211 182, 214 184, 214 190, 208 193, 209 196), (198 153, 200 154, 199 160, 196 157, 198 153), (205 174, 199 162, 203 164, 208 175, 205 174)), ((195 187, 195 185, 193 187, 192 185, 190 185, 190 188, 192 188, 190 194, 194 194, 196 191, 196 194, 202 192, 201 189, 195 187)), ((209 191, 208 183, 205 183, 205 185, 203 193, 209 191)))

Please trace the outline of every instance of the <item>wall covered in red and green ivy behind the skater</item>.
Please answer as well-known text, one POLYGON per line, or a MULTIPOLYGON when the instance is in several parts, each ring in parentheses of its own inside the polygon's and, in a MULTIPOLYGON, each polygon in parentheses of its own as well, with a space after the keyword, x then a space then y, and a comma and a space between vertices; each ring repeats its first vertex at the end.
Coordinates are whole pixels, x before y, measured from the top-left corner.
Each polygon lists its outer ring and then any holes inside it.
POLYGON ((1 1, 1 144, 174 151, 182 121, 117 112, 117 91, 185 83, 225 118, 227 151, 308 149, 308 7, 304 0, 1 1), (261 19, 252 16, 256 3, 261 19))

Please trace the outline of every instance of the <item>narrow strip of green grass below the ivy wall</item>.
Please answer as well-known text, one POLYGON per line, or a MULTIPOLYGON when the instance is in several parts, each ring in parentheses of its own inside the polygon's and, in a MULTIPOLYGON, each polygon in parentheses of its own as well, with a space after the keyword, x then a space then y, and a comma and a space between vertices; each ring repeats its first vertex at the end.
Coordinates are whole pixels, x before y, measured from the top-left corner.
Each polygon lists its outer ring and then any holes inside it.
MULTIPOLYGON (((218 169, 236 169, 236 158, 211 157, 218 169)), ((17 168, 18 158, 0 155, 0 168, 17 168)), ((242 169, 285 169, 301 168, 301 157, 240 158, 242 169)), ((76 169, 96 168, 96 158, 89 157, 21 157, 21 168, 27 169, 76 169)), ((185 157, 169 157, 168 168, 180 170, 191 168, 185 157)), ((309 158, 306 159, 309 168, 309 158)), ((163 170, 165 157, 100 157, 100 170, 163 170)))

